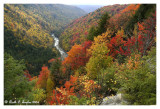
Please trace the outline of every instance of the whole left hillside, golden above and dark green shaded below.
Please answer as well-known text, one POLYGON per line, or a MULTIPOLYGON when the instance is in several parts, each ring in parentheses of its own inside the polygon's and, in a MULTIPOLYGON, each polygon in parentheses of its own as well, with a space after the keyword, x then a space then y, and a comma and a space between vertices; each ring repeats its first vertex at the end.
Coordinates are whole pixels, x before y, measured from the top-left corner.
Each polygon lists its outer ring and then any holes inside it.
POLYGON ((84 14, 69 5, 5 4, 4 50, 15 59, 25 59, 30 72, 38 72, 58 55, 50 33, 58 36, 66 24, 84 14))

